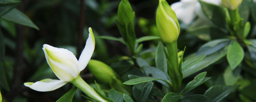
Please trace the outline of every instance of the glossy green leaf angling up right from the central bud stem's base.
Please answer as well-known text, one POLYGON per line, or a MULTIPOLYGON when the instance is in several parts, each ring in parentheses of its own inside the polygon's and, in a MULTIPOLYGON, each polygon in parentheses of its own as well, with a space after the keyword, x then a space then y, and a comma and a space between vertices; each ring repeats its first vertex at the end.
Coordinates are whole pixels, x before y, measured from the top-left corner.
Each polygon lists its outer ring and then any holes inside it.
POLYGON ((203 72, 203 73, 200 73, 198 74, 194 80, 190 81, 186 87, 183 89, 183 91, 181 92, 181 95, 183 95, 184 93, 196 88, 197 86, 203 84, 203 81, 204 81, 204 78, 206 76, 206 73, 207 72, 203 72))

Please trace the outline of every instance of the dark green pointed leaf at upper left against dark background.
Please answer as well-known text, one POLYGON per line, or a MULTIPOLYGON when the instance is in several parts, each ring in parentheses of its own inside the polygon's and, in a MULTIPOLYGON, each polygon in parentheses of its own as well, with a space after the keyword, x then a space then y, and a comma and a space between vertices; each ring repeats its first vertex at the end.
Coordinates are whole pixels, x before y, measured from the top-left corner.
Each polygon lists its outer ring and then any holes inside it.
POLYGON ((20 24, 29 26, 39 30, 39 28, 22 12, 17 9, 12 9, 11 11, 5 13, 1 16, 3 19, 20 24))

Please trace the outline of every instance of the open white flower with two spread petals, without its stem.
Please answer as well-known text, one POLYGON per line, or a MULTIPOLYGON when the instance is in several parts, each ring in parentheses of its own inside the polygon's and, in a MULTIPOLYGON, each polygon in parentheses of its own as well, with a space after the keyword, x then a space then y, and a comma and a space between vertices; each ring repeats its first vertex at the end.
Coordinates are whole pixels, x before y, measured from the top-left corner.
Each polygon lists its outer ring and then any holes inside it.
POLYGON ((89 28, 89 37, 86 41, 84 50, 79 57, 79 60, 77 60, 76 56, 67 49, 56 48, 44 44, 43 50, 46 61, 54 74, 60 80, 44 79, 36 83, 24 83, 24 85, 36 91, 53 91, 67 84, 68 82, 73 81, 79 76, 80 71, 87 66, 92 57, 94 47, 95 39, 91 27, 89 28))

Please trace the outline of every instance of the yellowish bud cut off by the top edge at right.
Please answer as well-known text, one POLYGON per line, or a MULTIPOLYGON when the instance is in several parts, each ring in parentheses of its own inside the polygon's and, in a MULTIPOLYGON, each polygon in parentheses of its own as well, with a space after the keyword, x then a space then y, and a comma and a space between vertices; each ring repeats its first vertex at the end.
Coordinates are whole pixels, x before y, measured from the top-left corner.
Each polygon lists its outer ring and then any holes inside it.
POLYGON ((243 0, 221 0, 223 6, 230 10, 235 10, 242 2, 243 0))

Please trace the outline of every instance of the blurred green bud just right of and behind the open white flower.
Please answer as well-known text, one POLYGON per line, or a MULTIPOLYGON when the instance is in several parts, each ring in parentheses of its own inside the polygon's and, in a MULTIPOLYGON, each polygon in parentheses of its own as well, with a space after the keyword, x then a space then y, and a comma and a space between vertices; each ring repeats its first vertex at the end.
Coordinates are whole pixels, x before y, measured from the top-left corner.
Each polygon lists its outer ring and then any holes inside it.
POLYGON ((90 60, 87 66, 92 75, 104 84, 109 85, 113 78, 120 79, 116 72, 103 62, 90 60))

